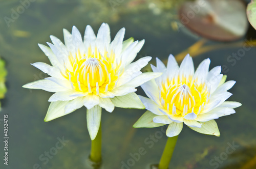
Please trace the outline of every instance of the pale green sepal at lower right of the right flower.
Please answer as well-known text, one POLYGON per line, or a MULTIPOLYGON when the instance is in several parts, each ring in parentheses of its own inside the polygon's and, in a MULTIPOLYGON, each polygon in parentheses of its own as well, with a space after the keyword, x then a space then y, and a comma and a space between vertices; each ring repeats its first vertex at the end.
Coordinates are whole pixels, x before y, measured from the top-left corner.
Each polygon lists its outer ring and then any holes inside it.
POLYGON ((210 120, 210 121, 207 121, 207 122, 199 122, 199 123, 202 123, 201 128, 189 127, 189 126, 188 127, 191 128, 192 130, 195 130, 195 131, 197 131, 199 133, 202 133, 202 134, 220 136, 220 131, 219 131, 218 125, 217 125, 215 120, 210 120))

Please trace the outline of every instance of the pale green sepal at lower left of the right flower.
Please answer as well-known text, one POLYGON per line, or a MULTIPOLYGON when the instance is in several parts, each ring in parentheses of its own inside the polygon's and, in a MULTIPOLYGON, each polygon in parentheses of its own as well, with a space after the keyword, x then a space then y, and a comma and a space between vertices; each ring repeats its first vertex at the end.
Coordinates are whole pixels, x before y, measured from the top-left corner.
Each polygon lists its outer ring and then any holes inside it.
POLYGON ((139 120, 133 125, 134 128, 141 128, 141 127, 147 127, 147 128, 154 128, 154 127, 160 127, 164 126, 165 124, 161 123, 154 123, 153 118, 158 115, 153 114, 151 111, 146 111, 139 120))

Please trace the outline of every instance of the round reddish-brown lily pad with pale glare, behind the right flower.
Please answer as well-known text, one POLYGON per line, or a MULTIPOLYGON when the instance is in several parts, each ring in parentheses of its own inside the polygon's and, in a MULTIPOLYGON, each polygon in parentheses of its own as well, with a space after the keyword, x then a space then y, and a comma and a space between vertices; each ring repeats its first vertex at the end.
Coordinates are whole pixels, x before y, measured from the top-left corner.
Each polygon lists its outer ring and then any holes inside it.
POLYGON ((237 40, 248 29, 246 6, 240 0, 186 2, 179 17, 188 29, 211 40, 237 40))

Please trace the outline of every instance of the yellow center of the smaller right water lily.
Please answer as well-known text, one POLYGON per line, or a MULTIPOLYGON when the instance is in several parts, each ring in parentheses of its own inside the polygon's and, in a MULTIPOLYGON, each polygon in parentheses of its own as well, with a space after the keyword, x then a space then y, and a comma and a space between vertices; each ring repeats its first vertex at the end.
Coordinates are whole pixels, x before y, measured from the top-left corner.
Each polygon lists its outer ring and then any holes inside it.
POLYGON ((162 82, 160 99, 168 114, 184 117, 205 109, 210 91, 205 83, 198 85, 196 81, 193 77, 178 77, 162 82))

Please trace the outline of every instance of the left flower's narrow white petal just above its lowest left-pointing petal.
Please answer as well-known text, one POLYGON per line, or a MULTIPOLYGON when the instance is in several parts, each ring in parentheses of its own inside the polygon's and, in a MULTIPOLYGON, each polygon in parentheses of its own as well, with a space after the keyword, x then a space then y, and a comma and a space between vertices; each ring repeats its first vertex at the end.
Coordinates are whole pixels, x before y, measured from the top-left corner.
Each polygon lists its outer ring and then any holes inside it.
POLYGON ((33 65, 37 69, 40 69, 44 73, 49 74, 50 76, 59 77, 59 78, 63 77, 61 75, 60 71, 57 68, 55 68, 53 66, 50 66, 50 65, 48 65, 46 63, 36 62, 36 63, 31 64, 31 65, 33 65))

